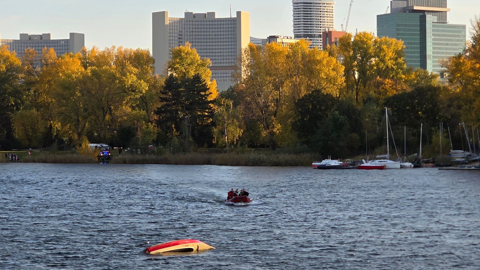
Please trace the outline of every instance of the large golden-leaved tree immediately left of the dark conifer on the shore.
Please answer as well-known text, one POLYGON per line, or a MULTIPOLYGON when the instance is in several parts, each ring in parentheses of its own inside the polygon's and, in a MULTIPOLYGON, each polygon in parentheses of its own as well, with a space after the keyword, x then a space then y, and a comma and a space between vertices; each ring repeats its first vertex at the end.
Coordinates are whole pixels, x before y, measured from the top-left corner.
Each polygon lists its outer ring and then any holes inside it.
POLYGON ((96 140, 113 140, 120 125, 127 124, 144 130, 137 135, 150 144, 142 135, 152 132, 147 123, 153 117, 156 100, 152 97, 158 95, 158 83, 148 50, 93 47, 84 48, 81 56, 84 73, 78 92, 96 140))

